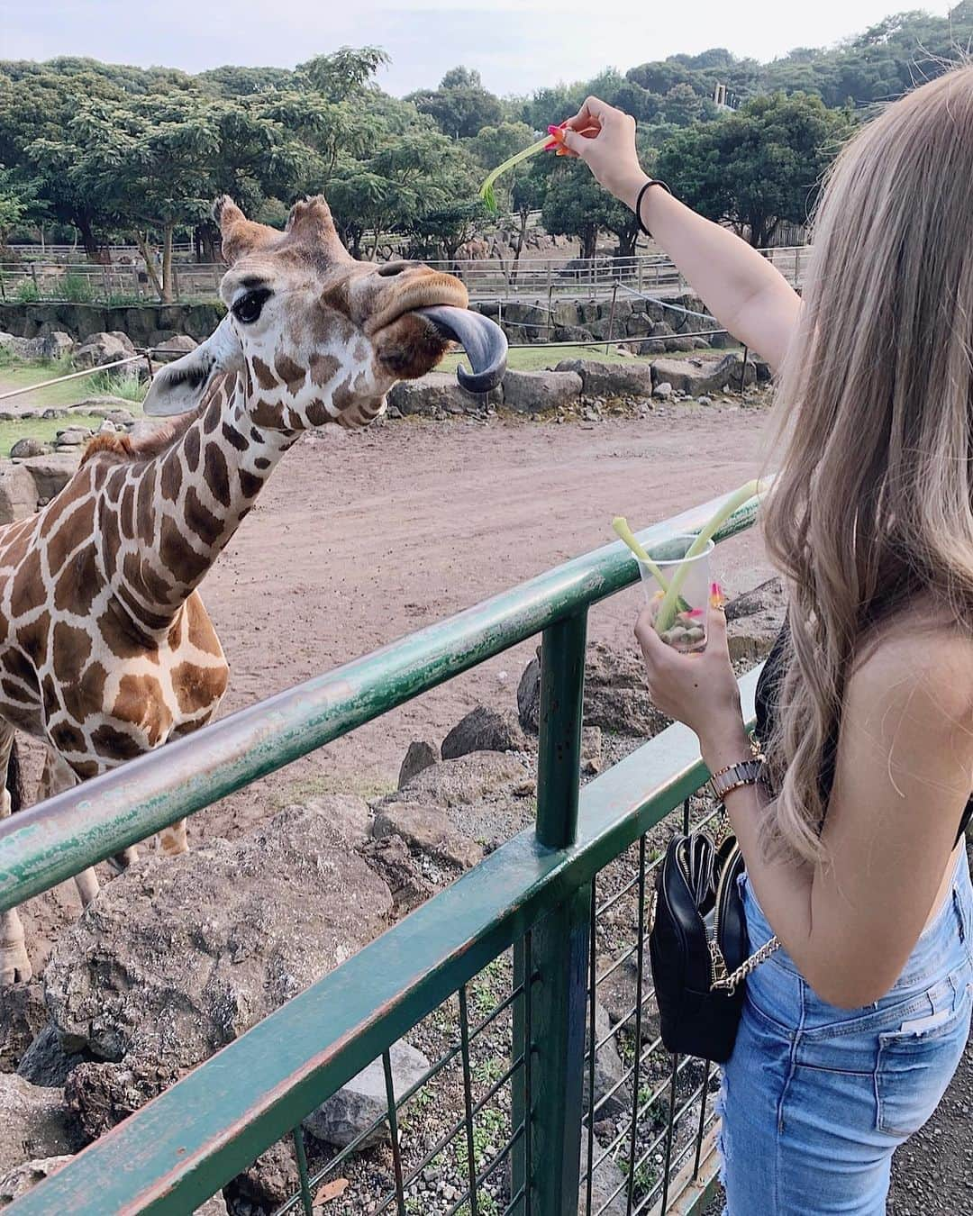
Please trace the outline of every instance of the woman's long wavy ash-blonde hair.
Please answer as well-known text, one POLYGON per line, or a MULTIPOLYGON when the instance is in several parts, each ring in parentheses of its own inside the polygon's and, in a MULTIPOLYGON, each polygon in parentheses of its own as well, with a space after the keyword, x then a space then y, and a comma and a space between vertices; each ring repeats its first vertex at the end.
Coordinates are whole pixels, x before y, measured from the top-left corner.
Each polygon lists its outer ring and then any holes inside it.
POLYGON ((973 635, 973 66, 837 158, 777 398, 764 533, 791 599, 767 843, 817 860, 862 646, 922 602, 973 635))

